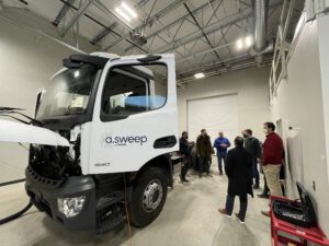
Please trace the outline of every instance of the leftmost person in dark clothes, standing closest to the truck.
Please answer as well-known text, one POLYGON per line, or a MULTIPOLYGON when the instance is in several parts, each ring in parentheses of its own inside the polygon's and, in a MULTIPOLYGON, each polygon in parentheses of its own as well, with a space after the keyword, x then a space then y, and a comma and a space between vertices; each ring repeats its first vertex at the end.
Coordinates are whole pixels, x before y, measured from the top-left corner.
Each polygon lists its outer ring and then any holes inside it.
POLYGON ((181 174, 180 174, 181 183, 184 183, 184 181, 189 183, 189 180, 186 179, 186 173, 190 168, 192 147, 190 145, 188 139, 189 139, 189 133, 186 131, 183 131, 182 137, 180 138, 180 152, 183 157, 181 174))

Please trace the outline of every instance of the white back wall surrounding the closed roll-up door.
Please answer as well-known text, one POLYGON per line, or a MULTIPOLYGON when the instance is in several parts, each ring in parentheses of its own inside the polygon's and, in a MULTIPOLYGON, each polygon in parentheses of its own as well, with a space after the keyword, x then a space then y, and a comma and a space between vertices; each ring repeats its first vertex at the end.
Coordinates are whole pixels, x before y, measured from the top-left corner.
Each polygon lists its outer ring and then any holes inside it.
MULTIPOLYGON (((180 131, 186 130, 186 102, 189 99, 237 93, 238 129, 250 128, 254 137, 263 141, 263 122, 270 120, 268 68, 250 68, 220 77, 196 80, 178 91, 180 131)), ((195 114, 197 114, 195 112, 195 114)), ((220 130, 220 126, 218 126, 220 130)), ((225 132, 224 132, 225 133, 225 132)), ((215 139, 217 136, 211 136, 215 139)), ((191 139, 192 140, 192 139, 191 139)))

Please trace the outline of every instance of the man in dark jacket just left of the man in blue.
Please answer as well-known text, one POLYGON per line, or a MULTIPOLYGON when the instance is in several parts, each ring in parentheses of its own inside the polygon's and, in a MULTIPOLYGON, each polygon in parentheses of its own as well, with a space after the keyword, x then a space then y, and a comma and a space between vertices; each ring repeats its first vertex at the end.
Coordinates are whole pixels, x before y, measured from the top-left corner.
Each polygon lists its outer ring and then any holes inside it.
POLYGON ((198 157, 198 176, 202 177, 203 171, 209 174, 209 161, 212 157, 212 142, 205 129, 201 130, 201 134, 196 139, 196 155, 198 157))

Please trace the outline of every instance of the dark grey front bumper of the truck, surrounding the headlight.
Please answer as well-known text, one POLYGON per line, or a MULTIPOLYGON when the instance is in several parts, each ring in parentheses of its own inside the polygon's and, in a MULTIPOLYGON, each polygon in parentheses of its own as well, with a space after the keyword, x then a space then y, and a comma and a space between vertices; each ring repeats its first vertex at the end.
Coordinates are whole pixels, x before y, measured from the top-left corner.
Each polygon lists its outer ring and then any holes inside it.
POLYGON ((95 184, 91 176, 71 176, 64 180, 39 177, 30 166, 25 171, 25 189, 33 204, 46 212, 54 221, 71 230, 95 230, 95 184), (57 198, 86 196, 82 211, 66 218, 58 211, 57 198))

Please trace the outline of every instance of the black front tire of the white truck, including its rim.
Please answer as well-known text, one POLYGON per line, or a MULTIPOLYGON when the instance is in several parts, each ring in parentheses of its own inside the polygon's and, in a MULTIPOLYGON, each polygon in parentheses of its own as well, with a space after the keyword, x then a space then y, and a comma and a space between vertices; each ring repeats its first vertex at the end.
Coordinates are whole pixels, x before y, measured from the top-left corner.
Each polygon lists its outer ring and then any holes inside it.
POLYGON ((167 198, 166 171, 159 167, 146 169, 134 186, 129 204, 131 222, 145 227, 160 214, 167 198))

